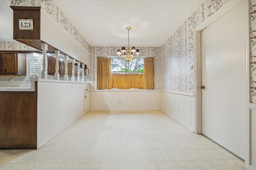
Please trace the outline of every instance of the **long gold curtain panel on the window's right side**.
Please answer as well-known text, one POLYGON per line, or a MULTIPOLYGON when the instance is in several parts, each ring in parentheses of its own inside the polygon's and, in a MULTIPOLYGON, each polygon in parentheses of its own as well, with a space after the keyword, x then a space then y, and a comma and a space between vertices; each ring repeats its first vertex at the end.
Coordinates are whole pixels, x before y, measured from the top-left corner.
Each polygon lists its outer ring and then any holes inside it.
POLYGON ((144 59, 143 89, 154 89, 154 58, 144 59))

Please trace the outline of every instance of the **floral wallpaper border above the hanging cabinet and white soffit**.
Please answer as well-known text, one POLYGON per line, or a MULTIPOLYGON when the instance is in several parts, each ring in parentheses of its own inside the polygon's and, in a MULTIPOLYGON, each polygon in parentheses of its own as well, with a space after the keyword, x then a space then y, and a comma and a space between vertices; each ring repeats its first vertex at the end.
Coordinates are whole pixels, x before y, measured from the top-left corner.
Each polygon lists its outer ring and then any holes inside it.
POLYGON ((60 26, 90 53, 90 45, 55 6, 52 0, 11 0, 10 6, 41 6, 60 26))

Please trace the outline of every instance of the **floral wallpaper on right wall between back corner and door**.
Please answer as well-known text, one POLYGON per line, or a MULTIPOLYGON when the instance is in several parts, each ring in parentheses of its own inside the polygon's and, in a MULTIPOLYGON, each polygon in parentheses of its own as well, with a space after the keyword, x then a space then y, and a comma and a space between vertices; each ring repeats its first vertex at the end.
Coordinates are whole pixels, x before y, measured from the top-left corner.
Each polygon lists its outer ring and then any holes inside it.
POLYGON ((194 94, 194 28, 227 2, 206 0, 162 45, 162 90, 194 94))

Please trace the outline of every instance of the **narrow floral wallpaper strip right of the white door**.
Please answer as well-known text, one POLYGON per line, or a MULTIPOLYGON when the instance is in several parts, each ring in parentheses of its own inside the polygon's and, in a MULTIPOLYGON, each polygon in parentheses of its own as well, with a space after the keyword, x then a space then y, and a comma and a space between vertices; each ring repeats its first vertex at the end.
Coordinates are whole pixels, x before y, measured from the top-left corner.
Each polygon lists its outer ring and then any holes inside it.
POLYGON ((250 102, 256 103, 256 0, 250 0, 250 102))

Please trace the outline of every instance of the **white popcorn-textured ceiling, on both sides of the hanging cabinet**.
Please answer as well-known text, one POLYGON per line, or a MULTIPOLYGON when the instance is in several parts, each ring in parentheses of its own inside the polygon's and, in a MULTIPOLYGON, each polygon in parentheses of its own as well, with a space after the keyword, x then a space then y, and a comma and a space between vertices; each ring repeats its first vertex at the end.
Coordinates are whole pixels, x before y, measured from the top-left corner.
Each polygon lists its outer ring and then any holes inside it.
MULTIPOLYGON (((162 46, 204 2, 204 0, 52 1, 90 46, 127 46, 126 27, 130 26, 132 27, 130 46, 135 47, 162 46)), ((0 41, 13 41, 12 10, 9 6, 10 0, 0 0, 0 41)))

